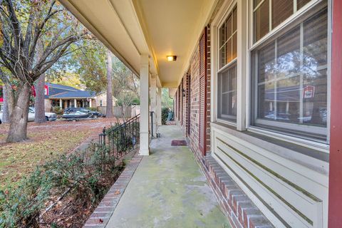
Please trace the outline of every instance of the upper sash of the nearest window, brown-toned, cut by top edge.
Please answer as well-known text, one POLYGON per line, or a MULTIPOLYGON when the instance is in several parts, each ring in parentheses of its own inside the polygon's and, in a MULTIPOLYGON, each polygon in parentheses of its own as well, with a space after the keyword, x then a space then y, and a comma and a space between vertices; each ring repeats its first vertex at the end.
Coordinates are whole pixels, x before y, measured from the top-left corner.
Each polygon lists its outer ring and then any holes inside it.
POLYGON ((253 41, 257 42, 311 0, 254 0, 253 41))

